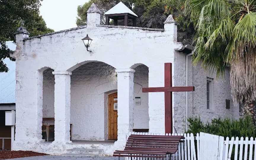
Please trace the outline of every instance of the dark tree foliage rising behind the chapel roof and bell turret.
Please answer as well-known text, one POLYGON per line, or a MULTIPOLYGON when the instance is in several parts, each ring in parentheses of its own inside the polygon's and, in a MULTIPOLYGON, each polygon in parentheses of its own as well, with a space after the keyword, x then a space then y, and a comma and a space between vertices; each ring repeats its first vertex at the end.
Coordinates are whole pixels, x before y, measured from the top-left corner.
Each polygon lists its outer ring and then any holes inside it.
MULTIPOLYGON (((104 14, 120 1, 89 0, 77 7, 76 25, 86 25, 87 10, 92 3, 95 3, 104 14)), ((138 15, 137 27, 163 28, 167 16, 172 14, 178 25, 178 41, 192 43, 194 26, 190 17, 184 14, 185 0, 122 0, 122 2, 138 15)), ((101 15, 101 24, 105 24, 103 15, 101 15)))

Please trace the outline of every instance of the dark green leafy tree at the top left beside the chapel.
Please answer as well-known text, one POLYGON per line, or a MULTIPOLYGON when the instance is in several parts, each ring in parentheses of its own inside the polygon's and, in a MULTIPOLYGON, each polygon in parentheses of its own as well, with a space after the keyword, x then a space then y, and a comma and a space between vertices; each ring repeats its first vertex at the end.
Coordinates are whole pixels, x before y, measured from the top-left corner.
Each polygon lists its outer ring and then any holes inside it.
MULTIPOLYGON (((30 36, 53 32, 39 15, 40 5, 41 0, 0 0, 0 72, 8 71, 3 62, 4 58, 10 58, 5 41, 15 41, 18 27, 23 25, 31 33, 30 36)), ((10 59, 15 61, 14 58, 10 59)))

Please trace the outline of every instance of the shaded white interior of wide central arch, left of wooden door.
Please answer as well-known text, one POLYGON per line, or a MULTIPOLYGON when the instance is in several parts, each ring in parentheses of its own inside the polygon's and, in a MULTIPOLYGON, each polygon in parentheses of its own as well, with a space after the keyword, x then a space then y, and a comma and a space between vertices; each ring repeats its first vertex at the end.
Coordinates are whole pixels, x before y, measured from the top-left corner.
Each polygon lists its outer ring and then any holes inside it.
POLYGON ((103 62, 79 65, 71 75, 71 140, 108 140, 108 95, 117 90, 115 68, 103 62))

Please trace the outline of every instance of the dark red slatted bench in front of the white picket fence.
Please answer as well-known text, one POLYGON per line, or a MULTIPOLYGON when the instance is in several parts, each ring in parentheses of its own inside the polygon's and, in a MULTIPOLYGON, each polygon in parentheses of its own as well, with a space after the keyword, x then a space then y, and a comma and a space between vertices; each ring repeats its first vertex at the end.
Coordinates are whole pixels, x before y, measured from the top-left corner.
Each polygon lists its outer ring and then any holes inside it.
POLYGON ((168 135, 130 135, 124 151, 115 151, 113 156, 166 158, 176 153, 183 136, 168 135))

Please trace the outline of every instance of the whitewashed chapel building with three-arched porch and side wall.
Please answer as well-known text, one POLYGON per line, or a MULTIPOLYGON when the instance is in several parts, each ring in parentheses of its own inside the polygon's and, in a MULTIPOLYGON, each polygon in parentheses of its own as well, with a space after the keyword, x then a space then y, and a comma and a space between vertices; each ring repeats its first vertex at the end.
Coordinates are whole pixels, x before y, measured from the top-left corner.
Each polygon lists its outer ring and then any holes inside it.
POLYGON ((174 132, 184 133, 189 117, 239 118, 228 69, 225 78, 216 79, 200 64, 193 67, 193 47, 177 42, 172 15, 164 29, 118 26, 118 19, 137 16, 118 5, 121 9, 105 14, 115 25, 101 25, 101 12, 92 4, 87 26, 35 37, 18 29, 11 55, 16 58, 14 150, 66 154, 94 148, 111 155, 124 147, 129 132, 164 133, 164 92, 142 92, 164 86, 164 63, 172 63, 172 86, 195 86, 194 92, 173 92, 174 132), (87 35, 89 48, 81 40, 87 35))

